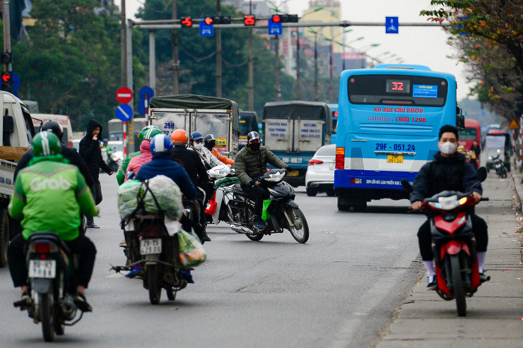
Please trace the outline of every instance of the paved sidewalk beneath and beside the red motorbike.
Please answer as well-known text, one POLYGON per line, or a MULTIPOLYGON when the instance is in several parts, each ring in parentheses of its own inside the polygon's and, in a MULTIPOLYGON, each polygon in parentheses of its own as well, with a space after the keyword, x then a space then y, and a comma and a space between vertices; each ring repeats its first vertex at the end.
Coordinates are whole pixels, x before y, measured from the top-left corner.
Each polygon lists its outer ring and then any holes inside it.
POLYGON ((483 182, 483 196, 490 201, 481 202, 476 212, 488 224, 491 280, 466 299, 466 317, 457 316, 455 301, 428 291, 423 276, 377 348, 523 347, 523 233, 517 233, 523 231, 523 184, 519 172, 512 174, 513 179, 499 179, 490 171, 483 182))

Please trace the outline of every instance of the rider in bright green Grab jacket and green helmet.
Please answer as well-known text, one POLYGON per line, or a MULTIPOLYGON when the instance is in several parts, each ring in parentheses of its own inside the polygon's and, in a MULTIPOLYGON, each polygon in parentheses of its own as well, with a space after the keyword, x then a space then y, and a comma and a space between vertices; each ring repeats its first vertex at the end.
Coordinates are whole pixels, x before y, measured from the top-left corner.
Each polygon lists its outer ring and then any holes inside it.
POLYGON ((21 220, 23 232, 13 238, 8 248, 8 263, 15 287, 22 290, 22 299, 15 306, 28 308, 28 270, 25 262, 25 241, 35 231, 58 234, 72 253, 79 254, 78 287, 74 301, 81 311, 92 311, 86 301, 85 289, 95 264, 96 248, 88 237, 78 232, 81 213, 98 215, 93 196, 77 167, 64 160, 60 141, 52 132, 40 132, 33 140, 33 159, 22 169, 15 181, 15 193, 8 210, 13 219, 21 220), (59 211, 59 214, 57 212, 59 211))

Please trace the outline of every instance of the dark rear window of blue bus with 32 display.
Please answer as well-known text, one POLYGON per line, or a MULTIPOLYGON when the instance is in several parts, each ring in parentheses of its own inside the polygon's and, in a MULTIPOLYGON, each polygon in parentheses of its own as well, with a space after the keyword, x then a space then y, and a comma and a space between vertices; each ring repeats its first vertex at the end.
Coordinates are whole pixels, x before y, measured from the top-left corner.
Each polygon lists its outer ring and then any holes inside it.
POLYGON ((353 75, 348 78, 351 104, 442 107, 447 101, 445 78, 406 75, 353 75))

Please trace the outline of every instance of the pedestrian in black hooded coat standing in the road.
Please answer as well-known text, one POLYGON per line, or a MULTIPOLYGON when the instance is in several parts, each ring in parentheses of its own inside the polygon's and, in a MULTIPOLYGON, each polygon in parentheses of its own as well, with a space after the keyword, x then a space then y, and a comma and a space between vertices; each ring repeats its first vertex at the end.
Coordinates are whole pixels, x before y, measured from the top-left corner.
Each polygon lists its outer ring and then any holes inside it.
MULTIPOLYGON (((102 159, 102 150, 100 150, 100 140, 102 138, 102 124, 95 119, 90 119, 87 124, 86 136, 80 140, 80 155, 83 161, 86 162, 91 176, 93 176, 93 186, 90 191, 93 193, 96 205, 102 202, 102 186, 100 186, 99 174, 100 168, 109 175, 112 175, 112 170, 102 159)), ((93 218, 87 220, 88 228, 99 229, 95 224, 93 218)))

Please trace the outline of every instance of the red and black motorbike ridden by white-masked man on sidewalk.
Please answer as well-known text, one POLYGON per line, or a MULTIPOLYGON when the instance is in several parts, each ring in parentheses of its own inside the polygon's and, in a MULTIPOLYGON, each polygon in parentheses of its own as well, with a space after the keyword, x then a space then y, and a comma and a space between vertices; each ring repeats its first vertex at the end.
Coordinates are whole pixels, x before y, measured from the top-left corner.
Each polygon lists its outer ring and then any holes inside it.
MULTIPOLYGON (((478 169, 478 183, 486 179, 486 172, 485 167, 478 169)), ((409 181, 402 180, 401 185, 409 193, 413 191, 409 181)), ((470 217, 475 204, 471 192, 442 191, 425 198, 421 205, 421 212, 430 218, 436 292, 446 301, 456 300, 458 316, 466 316, 465 297, 473 296, 481 285, 470 217)))

